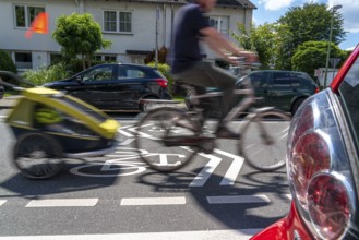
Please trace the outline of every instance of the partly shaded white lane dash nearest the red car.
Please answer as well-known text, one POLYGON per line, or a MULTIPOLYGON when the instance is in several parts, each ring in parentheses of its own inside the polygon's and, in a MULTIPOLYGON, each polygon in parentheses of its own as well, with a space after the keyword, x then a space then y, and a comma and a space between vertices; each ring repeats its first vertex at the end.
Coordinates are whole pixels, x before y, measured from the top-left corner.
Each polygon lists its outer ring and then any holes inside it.
POLYGON ((223 195, 207 196, 210 204, 229 204, 229 203, 270 203, 266 195, 223 195))

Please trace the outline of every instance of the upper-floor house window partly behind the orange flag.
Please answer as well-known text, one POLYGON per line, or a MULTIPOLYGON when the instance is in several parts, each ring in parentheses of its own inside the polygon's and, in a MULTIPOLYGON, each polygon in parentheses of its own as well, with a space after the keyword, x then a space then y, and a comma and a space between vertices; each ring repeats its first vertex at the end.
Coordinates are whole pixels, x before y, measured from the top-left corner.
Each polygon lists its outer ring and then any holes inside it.
POLYGON ((16 27, 29 27, 34 19, 40 13, 45 12, 44 7, 31 7, 31 5, 15 5, 15 26, 16 27))

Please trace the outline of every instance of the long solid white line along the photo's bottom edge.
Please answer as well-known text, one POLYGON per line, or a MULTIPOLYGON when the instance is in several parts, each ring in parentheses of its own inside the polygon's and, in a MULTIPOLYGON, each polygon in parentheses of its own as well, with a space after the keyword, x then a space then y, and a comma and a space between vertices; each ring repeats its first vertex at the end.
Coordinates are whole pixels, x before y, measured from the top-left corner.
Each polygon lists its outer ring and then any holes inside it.
POLYGON ((0 240, 218 240, 236 239, 248 240, 259 232, 260 228, 232 229, 232 230, 204 230, 204 231, 172 231, 172 232, 142 232, 142 233, 115 233, 115 235, 56 235, 56 236, 14 236, 0 237, 0 240))

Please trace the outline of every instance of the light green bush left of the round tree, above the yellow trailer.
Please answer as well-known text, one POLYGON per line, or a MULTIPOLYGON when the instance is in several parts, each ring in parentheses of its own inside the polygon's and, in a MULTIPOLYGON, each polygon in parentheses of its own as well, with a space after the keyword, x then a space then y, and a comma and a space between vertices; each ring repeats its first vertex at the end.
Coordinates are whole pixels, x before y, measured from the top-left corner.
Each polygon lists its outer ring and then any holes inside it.
POLYGON ((38 70, 28 70, 24 72, 23 77, 35 86, 40 86, 45 83, 67 79, 69 74, 64 65, 58 63, 48 68, 44 67, 38 70))

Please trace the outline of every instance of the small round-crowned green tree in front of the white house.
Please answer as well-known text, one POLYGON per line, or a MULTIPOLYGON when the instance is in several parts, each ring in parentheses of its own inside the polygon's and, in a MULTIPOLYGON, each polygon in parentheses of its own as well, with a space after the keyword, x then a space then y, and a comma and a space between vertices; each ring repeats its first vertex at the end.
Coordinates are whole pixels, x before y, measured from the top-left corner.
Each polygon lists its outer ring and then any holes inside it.
POLYGON ((83 69, 89 67, 94 53, 101 48, 109 48, 111 41, 104 39, 100 26, 88 13, 62 15, 57 20, 52 37, 62 46, 67 59, 81 56, 83 69))

